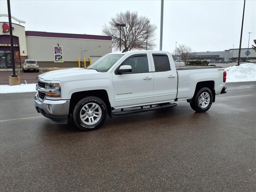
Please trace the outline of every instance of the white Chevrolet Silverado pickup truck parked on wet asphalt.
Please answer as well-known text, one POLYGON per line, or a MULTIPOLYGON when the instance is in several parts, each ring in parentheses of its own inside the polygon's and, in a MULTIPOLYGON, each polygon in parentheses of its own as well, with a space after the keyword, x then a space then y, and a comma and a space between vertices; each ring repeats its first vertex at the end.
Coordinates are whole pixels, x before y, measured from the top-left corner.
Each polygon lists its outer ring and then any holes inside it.
POLYGON ((128 51, 102 56, 84 68, 38 76, 36 110, 58 123, 82 130, 99 128, 108 115, 124 115, 176 106, 187 100, 206 112, 215 95, 226 93, 222 67, 176 68, 163 51, 128 51))

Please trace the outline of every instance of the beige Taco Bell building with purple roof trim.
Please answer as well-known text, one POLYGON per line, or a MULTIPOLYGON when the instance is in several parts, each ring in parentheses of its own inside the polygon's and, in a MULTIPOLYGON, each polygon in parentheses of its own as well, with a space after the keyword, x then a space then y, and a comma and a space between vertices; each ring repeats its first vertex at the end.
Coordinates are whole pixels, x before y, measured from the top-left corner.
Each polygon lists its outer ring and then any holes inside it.
MULTIPOLYGON (((24 21, 14 18, 18 22, 24 21)), ((25 59, 38 61, 44 67, 77 67, 78 58, 84 65, 104 54, 112 52, 111 36, 66 34, 25 31, 25 27, 12 23, 15 66, 21 67, 25 59)), ((10 28, 8 22, 0 22, 0 68, 10 68, 10 28)))

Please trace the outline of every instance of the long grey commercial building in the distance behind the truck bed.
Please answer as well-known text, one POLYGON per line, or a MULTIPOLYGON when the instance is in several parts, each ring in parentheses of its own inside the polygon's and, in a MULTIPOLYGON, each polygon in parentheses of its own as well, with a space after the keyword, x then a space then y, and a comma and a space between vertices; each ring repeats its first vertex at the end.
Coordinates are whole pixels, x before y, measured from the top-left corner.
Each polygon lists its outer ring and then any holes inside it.
MULTIPOLYGON (((252 48, 249 48, 250 54, 247 56, 248 48, 242 48, 240 53, 241 61, 246 61, 248 59, 256 59, 256 51, 252 48)), ((238 52, 239 49, 229 49, 224 51, 207 51, 207 52, 194 52, 192 53, 193 56, 189 58, 189 60, 238 60, 238 52)))

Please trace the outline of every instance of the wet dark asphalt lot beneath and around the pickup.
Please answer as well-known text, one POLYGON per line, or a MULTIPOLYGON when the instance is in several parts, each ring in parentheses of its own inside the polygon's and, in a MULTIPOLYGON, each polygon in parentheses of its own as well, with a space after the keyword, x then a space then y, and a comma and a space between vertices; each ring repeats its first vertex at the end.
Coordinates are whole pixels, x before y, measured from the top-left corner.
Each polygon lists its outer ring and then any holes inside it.
POLYGON ((256 82, 227 83, 206 113, 187 102, 82 132, 1 94, 1 192, 256 191, 256 82))

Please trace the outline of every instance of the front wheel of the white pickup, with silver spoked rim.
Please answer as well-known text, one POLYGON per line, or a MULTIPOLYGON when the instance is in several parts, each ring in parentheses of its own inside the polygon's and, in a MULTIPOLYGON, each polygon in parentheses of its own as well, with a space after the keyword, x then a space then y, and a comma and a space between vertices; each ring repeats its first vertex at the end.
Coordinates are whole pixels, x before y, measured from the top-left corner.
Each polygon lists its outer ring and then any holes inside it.
POLYGON ((81 99, 73 111, 76 126, 83 131, 96 130, 106 120, 107 106, 98 97, 89 96, 81 99))

